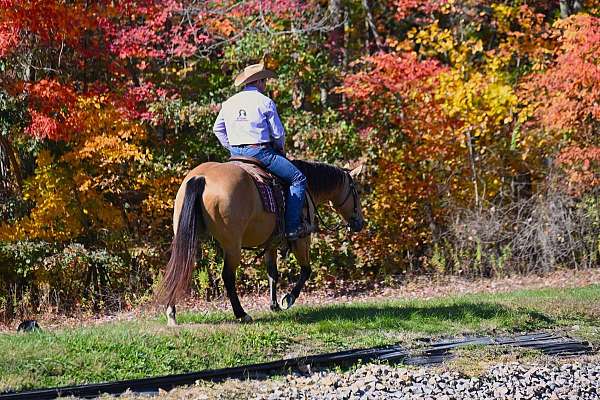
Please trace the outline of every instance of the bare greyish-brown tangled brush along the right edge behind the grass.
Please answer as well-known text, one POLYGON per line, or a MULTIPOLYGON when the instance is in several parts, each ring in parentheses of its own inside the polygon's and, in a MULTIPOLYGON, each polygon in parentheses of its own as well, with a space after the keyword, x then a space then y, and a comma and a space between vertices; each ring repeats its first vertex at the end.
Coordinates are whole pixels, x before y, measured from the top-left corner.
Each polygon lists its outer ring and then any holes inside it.
POLYGON ((598 193, 573 198, 548 188, 538 195, 478 210, 458 210, 429 264, 468 276, 590 268, 600 259, 598 193))

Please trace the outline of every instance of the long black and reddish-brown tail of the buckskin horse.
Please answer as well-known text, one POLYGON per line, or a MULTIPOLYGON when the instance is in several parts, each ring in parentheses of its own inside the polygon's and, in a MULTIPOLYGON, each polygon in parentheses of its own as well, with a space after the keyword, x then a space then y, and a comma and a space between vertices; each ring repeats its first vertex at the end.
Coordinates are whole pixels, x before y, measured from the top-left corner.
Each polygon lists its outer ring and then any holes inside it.
POLYGON ((203 176, 193 177, 186 184, 177 234, 171 244, 171 259, 157 292, 157 299, 162 304, 174 305, 189 289, 196 266, 198 239, 206 231, 202 218, 202 194, 205 186, 203 176))

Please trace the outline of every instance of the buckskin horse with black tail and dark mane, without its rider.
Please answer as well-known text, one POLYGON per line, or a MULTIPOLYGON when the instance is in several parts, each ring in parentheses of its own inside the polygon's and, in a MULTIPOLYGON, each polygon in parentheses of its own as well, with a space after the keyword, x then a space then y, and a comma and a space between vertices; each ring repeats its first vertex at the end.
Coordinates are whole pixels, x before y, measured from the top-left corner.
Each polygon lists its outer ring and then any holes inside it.
MULTIPOLYGON (((307 192, 314 207, 329 202, 345 220, 349 230, 359 232, 365 225, 355 178, 362 165, 347 170, 312 161, 292 161, 307 179, 307 192)), ((313 216, 314 218, 314 216, 313 216)), ((314 221, 313 221, 314 222, 314 221)), ((251 322, 240 304, 235 278, 242 248, 265 246, 276 227, 276 216, 266 212, 253 178, 236 163, 206 162, 184 178, 173 210, 171 257, 157 297, 166 306, 167 324, 175 326, 176 302, 189 290, 199 241, 212 236, 221 247, 224 263, 223 283, 233 313, 242 322, 251 322)), ((300 277, 282 300, 290 308, 311 274, 310 234, 294 241, 291 251, 300 265, 300 277)), ((280 311, 277 302, 277 246, 264 248, 269 278, 270 308, 280 311)))

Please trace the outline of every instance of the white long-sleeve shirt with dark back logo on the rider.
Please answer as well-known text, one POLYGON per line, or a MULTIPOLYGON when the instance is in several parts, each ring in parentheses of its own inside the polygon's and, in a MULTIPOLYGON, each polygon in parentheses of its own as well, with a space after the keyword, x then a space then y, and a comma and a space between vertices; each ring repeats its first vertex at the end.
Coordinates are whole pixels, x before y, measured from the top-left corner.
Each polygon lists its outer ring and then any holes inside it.
POLYGON ((225 147, 274 142, 283 149, 285 130, 273 100, 246 86, 222 105, 213 132, 225 147))

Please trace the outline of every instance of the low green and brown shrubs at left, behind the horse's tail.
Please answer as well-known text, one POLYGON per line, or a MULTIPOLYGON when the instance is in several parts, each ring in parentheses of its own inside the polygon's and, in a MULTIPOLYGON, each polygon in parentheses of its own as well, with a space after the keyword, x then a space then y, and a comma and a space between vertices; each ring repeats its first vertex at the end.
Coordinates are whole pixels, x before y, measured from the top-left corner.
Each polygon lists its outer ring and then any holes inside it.
POLYGON ((111 311, 137 302, 156 277, 152 248, 125 254, 73 243, 0 244, 0 313, 111 311))

